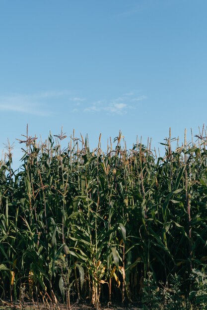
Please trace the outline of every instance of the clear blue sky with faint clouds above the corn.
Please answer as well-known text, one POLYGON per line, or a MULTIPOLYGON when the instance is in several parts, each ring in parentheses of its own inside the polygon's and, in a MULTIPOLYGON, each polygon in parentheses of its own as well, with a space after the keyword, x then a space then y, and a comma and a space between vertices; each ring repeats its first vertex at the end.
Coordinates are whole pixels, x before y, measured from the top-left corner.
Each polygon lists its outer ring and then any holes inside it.
POLYGON ((207 0, 0 0, 0 149, 27 123, 130 148, 206 119, 207 0))

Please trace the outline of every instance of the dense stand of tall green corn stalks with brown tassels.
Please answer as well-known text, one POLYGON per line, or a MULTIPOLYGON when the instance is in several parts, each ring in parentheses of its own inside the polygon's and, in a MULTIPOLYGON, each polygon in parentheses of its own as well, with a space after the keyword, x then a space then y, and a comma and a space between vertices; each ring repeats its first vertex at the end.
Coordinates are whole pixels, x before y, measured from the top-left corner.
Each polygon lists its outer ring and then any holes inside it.
MULTIPOLYGON (((90 151, 87 138, 28 136, 21 169, 0 162, 0 298, 138 301, 149 271, 187 280, 207 262, 207 138, 165 155, 137 142, 90 151), (122 147, 122 145, 124 145, 122 147)), ((178 143, 178 141, 177 141, 178 143)), ((189 285, 185 286, 188 291, 189 285)))

